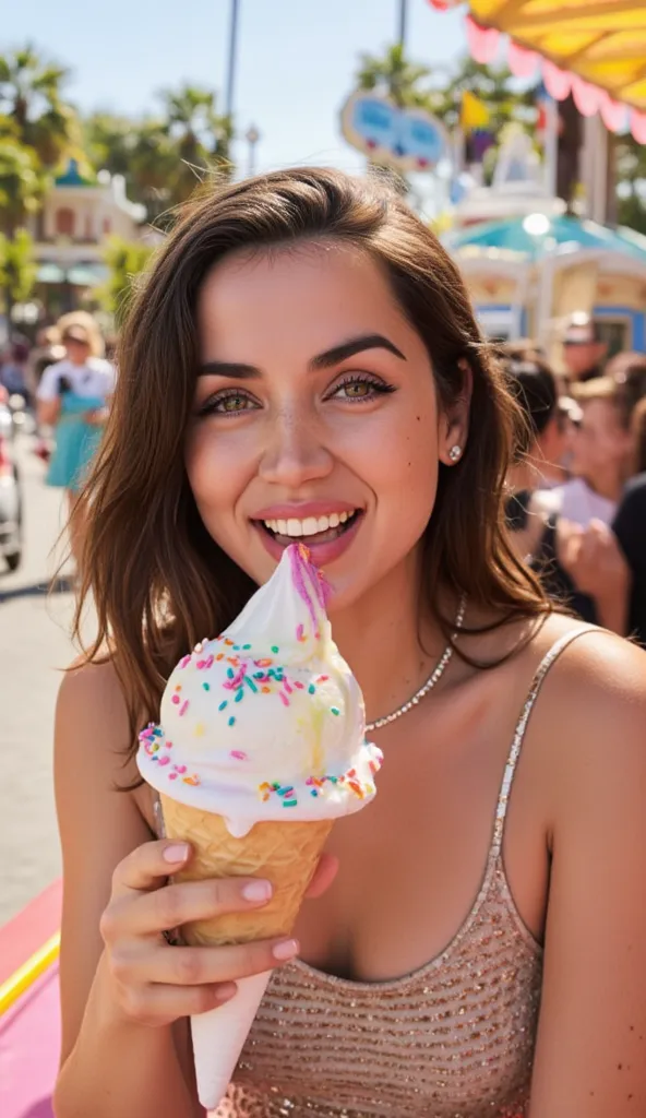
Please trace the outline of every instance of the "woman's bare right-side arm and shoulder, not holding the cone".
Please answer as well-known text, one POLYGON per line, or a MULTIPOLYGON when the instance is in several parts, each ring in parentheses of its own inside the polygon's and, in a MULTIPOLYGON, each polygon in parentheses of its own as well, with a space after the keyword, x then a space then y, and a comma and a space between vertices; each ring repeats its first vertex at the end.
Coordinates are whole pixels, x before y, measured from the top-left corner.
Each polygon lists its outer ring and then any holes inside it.
POLYGON ((566 659, 547 685, 553 856, 530 1118, 637 1118, 646 1114, 646 655, 600 635, 566 659))

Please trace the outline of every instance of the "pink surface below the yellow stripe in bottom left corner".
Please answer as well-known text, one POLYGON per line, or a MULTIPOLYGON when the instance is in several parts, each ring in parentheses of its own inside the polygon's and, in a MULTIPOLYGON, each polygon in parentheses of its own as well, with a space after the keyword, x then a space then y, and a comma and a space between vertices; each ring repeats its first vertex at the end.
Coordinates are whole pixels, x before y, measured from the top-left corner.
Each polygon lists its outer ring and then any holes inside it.
POLYGON ((0 1017, 0 1115, 53 1118, 58 1068, 58 965, 0 1017))

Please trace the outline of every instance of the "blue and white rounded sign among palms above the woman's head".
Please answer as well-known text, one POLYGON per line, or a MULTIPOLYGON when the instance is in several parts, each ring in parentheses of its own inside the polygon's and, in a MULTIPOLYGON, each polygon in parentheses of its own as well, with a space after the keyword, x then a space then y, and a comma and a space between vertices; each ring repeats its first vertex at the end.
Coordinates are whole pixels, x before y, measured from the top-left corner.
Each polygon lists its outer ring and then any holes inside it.
POLYGON ((348 143, 374 163, 397 171, 427 171, 447 150, 446 132, 422 108, 399 108, 388 97, 358 89, 341 111, 348 143))

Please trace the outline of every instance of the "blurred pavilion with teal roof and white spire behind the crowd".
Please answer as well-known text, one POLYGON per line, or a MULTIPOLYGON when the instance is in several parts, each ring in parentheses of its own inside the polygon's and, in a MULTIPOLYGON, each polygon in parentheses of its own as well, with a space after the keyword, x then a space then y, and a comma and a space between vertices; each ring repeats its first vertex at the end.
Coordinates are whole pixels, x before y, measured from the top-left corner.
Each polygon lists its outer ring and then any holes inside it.
POLYGON ((646 351, 646 237, 567 215, 539 170, 529 139, 512 135, 492 186, 465 196, 444 237, 484 331, 536 338, 558 360, 564 323, 586 313, 610 353, 646 351))

